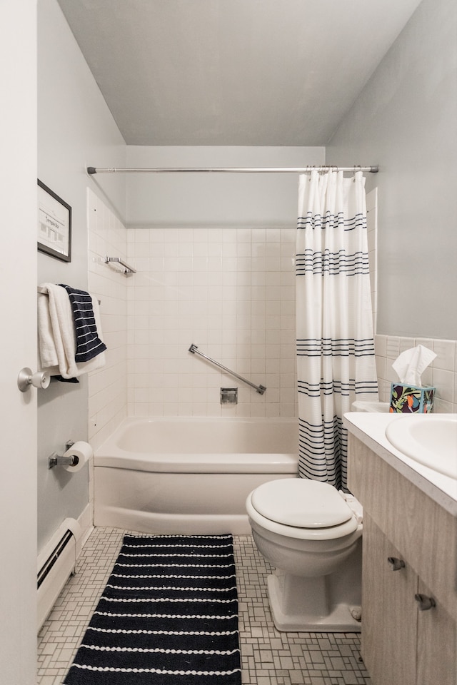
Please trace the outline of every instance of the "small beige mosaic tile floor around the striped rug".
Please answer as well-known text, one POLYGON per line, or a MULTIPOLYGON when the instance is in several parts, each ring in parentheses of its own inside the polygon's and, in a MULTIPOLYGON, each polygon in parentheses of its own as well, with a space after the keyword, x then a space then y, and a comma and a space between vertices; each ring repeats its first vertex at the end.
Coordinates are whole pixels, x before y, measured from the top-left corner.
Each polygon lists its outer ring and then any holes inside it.
MULTIPOLYGON (((96 528, 39 633, 38 685, 61 685, 121 547, 123 530, 96 528)), ((356 633, 283 633, 266 596, 268 563, 251 536, 233 540, 243 685, 368 685, 356 633)))

